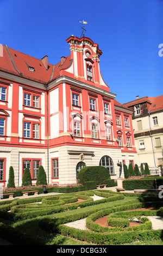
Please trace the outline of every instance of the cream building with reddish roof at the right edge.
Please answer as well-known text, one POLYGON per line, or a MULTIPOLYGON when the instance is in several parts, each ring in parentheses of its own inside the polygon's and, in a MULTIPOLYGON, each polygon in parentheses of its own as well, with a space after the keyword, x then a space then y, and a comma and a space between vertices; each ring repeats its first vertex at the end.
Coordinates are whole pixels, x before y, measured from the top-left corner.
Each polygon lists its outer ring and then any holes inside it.
POLYGON ((151 173, 163 166, 163 95, 139 97, 124 103, 133 110, 133 129, 139 165, 148 163, 151 173))

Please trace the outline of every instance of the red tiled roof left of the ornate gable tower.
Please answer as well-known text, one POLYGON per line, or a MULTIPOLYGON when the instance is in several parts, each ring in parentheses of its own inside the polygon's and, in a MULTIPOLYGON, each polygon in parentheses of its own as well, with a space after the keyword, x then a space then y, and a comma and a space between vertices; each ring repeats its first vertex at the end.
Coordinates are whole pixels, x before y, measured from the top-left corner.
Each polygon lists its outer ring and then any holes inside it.
POLYGON ((65 58, 64 64, 59 62, 54 66, 48 63, 48 69, 42 63, 42 60, 31 57, 22 52, 18 52, 3 46, 3 56, 0 57, 0 70, 9 72, 17 76, 27 78, 40 83, 48 83, 60 75, 60 70, 66 68, 70 63, 70 56, 65 58), (9 51, 9 52, 8 52, 9 51), (14 61, 14 64, 12 63, 14 61), (15 66, 14 66, 15 65, 15 66), (34 72, 29 70, 29 67, 34 68, 34 72))

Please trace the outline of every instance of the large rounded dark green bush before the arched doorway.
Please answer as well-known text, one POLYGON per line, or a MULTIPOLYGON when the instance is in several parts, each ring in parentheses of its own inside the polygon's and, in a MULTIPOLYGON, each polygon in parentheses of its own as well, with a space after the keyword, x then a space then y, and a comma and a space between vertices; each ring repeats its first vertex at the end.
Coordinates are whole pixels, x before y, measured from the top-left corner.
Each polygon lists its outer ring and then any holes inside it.
POLYGON ((110 173, 104 166, 86 166, 80 170, 77 179, 82 185, 87 181, 96 181, 97 185, 102 185, 105 180, 110 179, 110 173))

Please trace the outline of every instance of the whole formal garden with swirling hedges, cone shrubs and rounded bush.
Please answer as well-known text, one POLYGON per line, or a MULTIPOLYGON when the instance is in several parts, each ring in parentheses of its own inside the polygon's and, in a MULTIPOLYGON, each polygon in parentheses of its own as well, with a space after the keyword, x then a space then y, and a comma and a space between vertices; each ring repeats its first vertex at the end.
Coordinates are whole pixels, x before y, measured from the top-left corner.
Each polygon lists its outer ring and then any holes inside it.
POLYGON ((28 169, 21 187, 15 187, 12 167, 9 173, 0 200, 0 236, 15 245, 163 245, 163 230, 153 229, 149 220, 163 217, 163 199, 156 193, 126 192, 163 185, 163 177, 151 175, 147 167, 124 166, 123 193, 107 190, 117 181, 102 166, 84 167, 78 184, 65 186, 47 185, 42 166, 34 187, 28 169), (101 184, 106 188, 97 189, 101 184), (22 194, 34 190, 38 196, 22 194), (11 192, 13 198, 5 199, 11 192), (85 220, 84 229, 68 225, 79 220, 85 220))

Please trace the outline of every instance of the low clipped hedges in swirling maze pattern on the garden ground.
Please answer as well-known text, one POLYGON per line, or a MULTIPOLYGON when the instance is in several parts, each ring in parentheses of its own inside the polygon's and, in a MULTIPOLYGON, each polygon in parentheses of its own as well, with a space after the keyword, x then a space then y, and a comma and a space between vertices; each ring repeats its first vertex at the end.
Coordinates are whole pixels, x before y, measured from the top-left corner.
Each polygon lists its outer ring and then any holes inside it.
MULTIPOLYGON (((117 193, 108 190, 91 190, 56 196, 36 197, 5 201, 0 205, 0 218, 18 222, 37 220, 39 228, 49 233, 58 233, 96 245, 121 245, 136 240, 160 239, 163 230, 153 230, 146 216, 163 216, 163 202, 158 196, 117 193), (93 200, 94 195, 104 197, 93 200), (79 202, 80 199, 80 202, 79 202), (156 210, 136 210, 154 207, 156 210), (107 216, 111 227, 95 223, 107 216), (129 227, 129 220, 138 218, 140 224, 129 227), (71 228, 65 223, 86 218, 86 230, 71 228)), ((0 234, 26 245, 46 245, 39 236, 18 231, 0 223, 0 234)))

